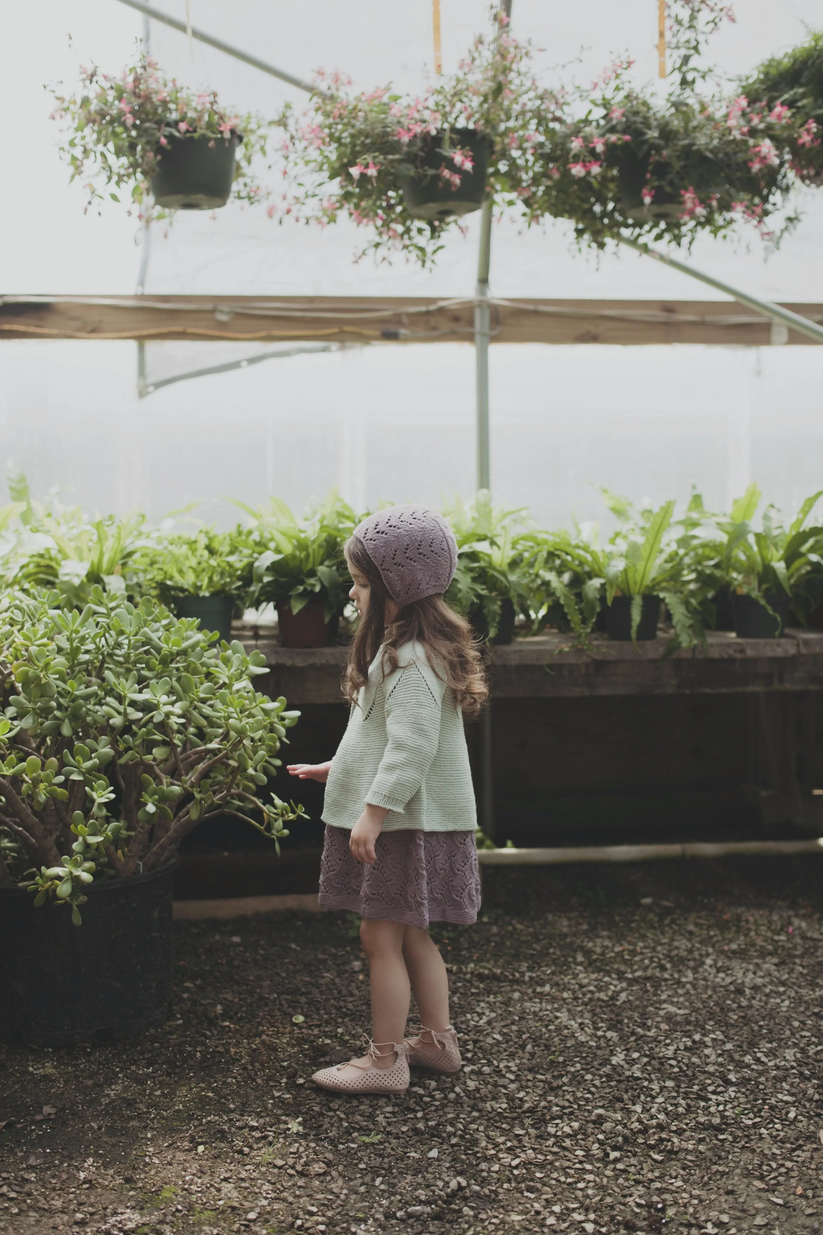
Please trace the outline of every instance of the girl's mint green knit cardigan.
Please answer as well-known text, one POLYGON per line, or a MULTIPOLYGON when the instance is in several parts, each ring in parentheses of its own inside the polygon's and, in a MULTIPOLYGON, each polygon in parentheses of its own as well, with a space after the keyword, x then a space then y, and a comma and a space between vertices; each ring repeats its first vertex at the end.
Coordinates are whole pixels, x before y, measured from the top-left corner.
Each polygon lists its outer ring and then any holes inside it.
POLYGON ((478 813, 463 711, 429 664, 406 643, 383 676, 381 653, 352 706, 326 784, 323 823, 354 827, 364 806, 385 806, 384 831, 474 831, 478 813))

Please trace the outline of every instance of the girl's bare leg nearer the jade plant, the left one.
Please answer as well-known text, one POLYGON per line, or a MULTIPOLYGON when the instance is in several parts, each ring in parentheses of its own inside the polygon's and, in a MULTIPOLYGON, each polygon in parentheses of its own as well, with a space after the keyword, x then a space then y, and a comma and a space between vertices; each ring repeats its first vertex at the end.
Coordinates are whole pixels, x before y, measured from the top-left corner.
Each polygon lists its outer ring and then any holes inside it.
MULTIPOLYGON (((360 923, 360 942, 369 958, 371 1036, 378 1049, 385 1052, 374 1060, 374 1066, 379 1068, 390 1068, 397 1058, 397 1052, 389 1051, 387 1045, 402 1042, 408 1020, 411 989, 403 961, 406 930, 408 927, 402 923, 376 918, 364 918, 360 923)), ((358 1062, 365 1063, 365 1060, 358 1062)), ((352 1068, 352 1076, 357 1074, 357 1070, 352 1068)))

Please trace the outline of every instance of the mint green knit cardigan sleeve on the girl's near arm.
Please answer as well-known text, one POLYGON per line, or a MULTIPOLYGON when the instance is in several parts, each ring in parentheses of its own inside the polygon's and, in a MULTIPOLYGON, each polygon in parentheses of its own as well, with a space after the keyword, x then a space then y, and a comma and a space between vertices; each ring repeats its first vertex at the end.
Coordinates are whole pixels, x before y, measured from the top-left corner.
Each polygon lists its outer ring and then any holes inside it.
POLYGON ((411 661, 385 679, 385 688, 389 741, 365 800, 402 814, 437 755, 445 683, 411 661))

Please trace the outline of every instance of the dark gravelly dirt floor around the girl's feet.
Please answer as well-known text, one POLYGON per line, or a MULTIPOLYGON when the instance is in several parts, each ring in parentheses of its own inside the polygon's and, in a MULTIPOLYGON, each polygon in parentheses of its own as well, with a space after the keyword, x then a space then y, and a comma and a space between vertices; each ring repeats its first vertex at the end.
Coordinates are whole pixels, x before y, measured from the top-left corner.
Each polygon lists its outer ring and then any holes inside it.
MULTIPOLYGON (((465 1067, 339 1098, 345 915, 178 926, 173 1019, 0 1049, 0 1231, 823 1230, 819 858, 489 871, 465 1067)), ((1 993, 0 993, 1 997, 1 993)))

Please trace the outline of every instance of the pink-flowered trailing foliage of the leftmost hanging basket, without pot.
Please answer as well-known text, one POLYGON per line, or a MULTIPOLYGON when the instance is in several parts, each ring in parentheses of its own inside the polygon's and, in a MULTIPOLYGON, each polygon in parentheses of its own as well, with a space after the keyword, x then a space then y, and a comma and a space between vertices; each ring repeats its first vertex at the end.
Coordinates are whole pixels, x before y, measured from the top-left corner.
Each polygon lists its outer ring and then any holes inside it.
POLYGON ((141 54, 120 77, 83 68, 77 94, 53 94, 52 119, 65 130, 60 156, 72 168, 70 179, 80 179, 89 194, 86 210, 105 200, 104 190, 117 203, 118 193, 126 190, 141 216, 163 216, 149 204, 160 151, 197 140, 211 146, 234 143, 233 196, 246 203, 264 196, 252 162, 265 154, 268 126, 250 114, 231 115, 213 91, 195 94, 178 85, 147 56, 141 54))

